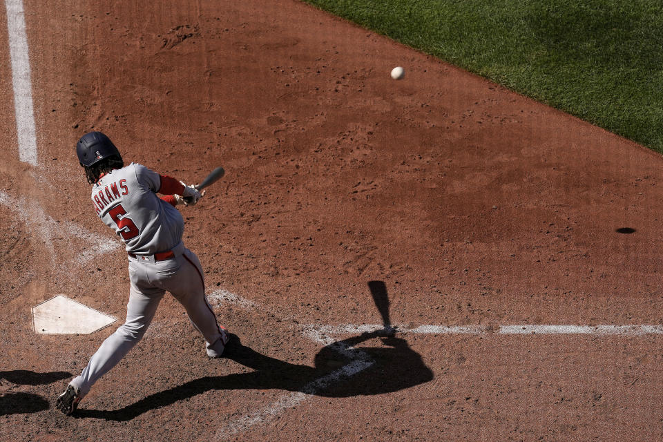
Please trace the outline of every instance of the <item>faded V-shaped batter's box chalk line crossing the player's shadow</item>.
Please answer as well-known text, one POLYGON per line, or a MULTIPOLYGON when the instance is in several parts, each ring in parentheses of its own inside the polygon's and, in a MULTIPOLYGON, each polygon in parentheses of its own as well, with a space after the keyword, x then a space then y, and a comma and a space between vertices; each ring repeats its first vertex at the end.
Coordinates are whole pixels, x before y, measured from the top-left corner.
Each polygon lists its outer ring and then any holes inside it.
MULTIPOLYGON (((225 289, 220 289, 214 291, 212 294, 207 296, 213 305, 219 306, 224 303, 230 303, 232 305, 238 306, 247 310, 256 310, 263 311, 265 313, 271 314, 279 319, 283 319, 284 316, 291 317, 291 315, 285 314, 280 315, 278 312, 274 311, 269 307, 258 304, 251 300, 247 300, 231 293, 225 289)), ((296 323, 293 323, 294 326, 297 326, 296 323)), ((371 358, 360 349, 356 349, 342 342, 335 342, 335 340, 325 335, 323 332, 307 332, 304 331, 304 336, 313 340, 315 343, 320 345, 334 345, 336 351, 343 356, 350 358, 352 361, 340 367, 339 369, 334 370, 325 376, 322 376, 314 381, 303 385, 298 392, 290 392, 278 398, 277 401, 262 407, 260 410, 245 414, 240 418, 231 421, 226 427, 220 428, 216 431, 217 439, 222 439, 233 434, 237 434, 244 430, 247 430, 253 425, 264 423, 269 419, 272 419, 274 416, 278 416, 283 411, 295 407, 296 405, 307 401, 309 398, 313 397, 318 392, 327 389, 329 386, 342 381, 344 378, 349 378, 360 372, 363 372, 368 367, 371 367, 374 364, 371 358)))

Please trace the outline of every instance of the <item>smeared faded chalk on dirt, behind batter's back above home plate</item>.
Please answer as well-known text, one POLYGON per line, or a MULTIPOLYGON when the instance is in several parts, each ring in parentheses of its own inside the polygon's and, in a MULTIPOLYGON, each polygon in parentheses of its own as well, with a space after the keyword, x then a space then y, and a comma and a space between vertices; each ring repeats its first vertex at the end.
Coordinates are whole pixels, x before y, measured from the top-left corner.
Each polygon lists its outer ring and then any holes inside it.
POLYGON ((90 231, 79 224, 57 222, 50 215, 47 215, 44 209, 41 209, 41 206, 32 204, 26 198, 12 198, 7 193, 0 191, 0 204, 8 207, 26 221, 28 228, 44 240, 44 244, 50 251, 51 256, 55 257, 53 240, 62 237, 70 238, 73 236, 88 243, 88 249, 76 254, 76 260, 81 265, 84 265, 97 256, 104 255, 120 247, 119 242, 90 233, 90 231))

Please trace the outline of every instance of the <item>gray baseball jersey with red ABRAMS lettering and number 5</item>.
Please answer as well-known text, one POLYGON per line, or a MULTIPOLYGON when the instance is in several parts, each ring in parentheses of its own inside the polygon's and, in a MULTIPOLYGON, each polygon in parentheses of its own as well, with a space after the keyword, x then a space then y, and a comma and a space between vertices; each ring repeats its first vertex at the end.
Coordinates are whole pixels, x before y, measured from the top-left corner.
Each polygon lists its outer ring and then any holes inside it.
POLYGON ((92 188, 97 215, 122 237, 128 253, 151 255, 182 240, 182 215, 157 197, 160 187, 158 173, 131 163, 104 175, 92 188))

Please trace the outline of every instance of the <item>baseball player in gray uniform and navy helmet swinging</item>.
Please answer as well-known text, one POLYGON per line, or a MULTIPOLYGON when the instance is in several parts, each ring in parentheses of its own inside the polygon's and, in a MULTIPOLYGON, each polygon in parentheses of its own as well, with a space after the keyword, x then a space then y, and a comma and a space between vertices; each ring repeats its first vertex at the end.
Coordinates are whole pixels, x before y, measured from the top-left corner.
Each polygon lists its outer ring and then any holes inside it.
MULTIPOLYGON (((200 261, 182 244, 184 220, 175 209, 180 203, 195 205, 204 192, 140 164, 124 166, 113 142, 100 132, 83 135, 76 153, 92 184, 95 212, 126 244, 131 288, 126 322, 104 340, 81 375, 58 396, 56 407, 67 415, 143 337, 165 291, 184 306, 204 336, 209 356, 221 356, 229 338, 205 297, 200 261)), ((222 169, 215 172, 215 179, 222 176, 222 169)))

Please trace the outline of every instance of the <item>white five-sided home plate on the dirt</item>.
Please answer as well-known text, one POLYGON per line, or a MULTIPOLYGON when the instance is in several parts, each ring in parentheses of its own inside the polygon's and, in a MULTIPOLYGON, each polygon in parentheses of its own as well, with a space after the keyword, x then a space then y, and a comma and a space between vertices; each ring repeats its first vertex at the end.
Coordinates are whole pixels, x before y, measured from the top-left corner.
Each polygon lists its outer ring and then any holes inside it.
POLYGON ((62 295, 32 307, 32 323, 41 334, 90 334, 115 320, 62 295))

